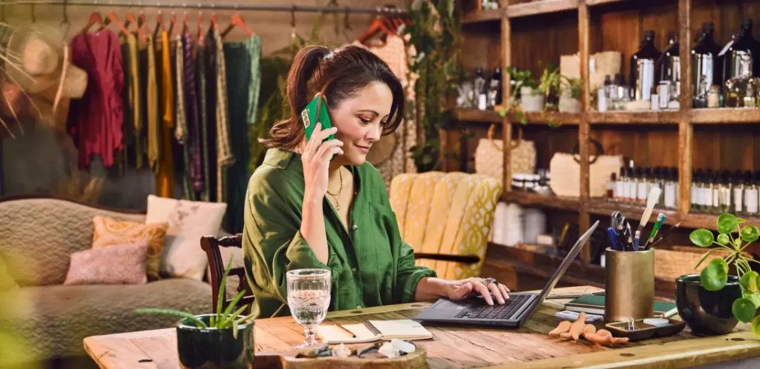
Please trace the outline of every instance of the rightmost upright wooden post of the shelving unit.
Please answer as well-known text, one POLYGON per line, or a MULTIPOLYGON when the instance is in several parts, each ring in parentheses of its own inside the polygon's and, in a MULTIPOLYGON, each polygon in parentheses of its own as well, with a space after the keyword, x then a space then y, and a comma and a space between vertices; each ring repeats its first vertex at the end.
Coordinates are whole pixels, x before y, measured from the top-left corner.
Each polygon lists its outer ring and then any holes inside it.
POLYGON ((679 105, 681 119, 678 123, 678 211, 686 215, 692 208, 692 144, 694 142, 694 126, 689 118, 692 112, 692 35, 691 17, 692 0, 679 0, 679 52, 685 55, 681 58, 681 96, 679 105))

